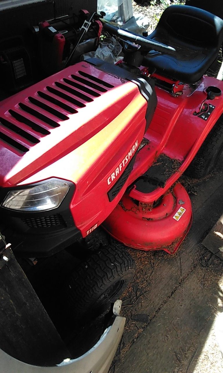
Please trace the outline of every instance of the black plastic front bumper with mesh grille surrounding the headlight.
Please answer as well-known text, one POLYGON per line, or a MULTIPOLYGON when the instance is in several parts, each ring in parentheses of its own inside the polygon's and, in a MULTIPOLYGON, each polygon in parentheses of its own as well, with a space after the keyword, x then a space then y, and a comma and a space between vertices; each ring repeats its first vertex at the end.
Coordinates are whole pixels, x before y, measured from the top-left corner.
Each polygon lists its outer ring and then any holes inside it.
MULTIPOLYGON (((51 180, 59 180, 52 178, 51 180)), ((48 257, 68 247, 82 237, 70 211, 75 186, 66 181, 70 190, 56 209, 23 212, 0 207, 0 231, 10 237, 13 251, 23 257, 48 257), (1 216, 4 217, 1 220, 1 216)), ((33 186, 42 182, 33 184, 33 186)), ((0 188, 0 204, 10 190, 26 186, 0 188)), ((29 186, 27 186, 29 187, 29 186)))

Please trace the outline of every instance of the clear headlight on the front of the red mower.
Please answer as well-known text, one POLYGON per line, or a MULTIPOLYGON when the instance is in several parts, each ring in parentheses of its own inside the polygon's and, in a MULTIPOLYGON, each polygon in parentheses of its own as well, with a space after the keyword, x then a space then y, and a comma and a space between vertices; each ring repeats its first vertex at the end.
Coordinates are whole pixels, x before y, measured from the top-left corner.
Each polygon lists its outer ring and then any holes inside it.
POLYGON ((66 182, 52 180, 41 185, 11 191, 2 206, 18 211, 46 211, 56 209, 69 190, 66 182))

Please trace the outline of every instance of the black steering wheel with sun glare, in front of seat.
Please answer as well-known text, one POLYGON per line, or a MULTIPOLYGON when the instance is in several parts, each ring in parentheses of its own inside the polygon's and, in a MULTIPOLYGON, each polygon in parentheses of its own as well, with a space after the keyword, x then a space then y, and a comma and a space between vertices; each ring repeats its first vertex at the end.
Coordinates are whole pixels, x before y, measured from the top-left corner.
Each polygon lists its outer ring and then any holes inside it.
POLYGON ((119 36, 122 40, 130 41, 132 43, 138 44, 142 47, 143 51, 155 50, 161 53, 173 54, 176 52, 175 48, 167 46, 166 44, 157 43, 143 36, 137 35, 134 32, 123 30, 119 27, 109 25, 108 23, 104 24, 104 30, 109 32, 111 35, 119 36))

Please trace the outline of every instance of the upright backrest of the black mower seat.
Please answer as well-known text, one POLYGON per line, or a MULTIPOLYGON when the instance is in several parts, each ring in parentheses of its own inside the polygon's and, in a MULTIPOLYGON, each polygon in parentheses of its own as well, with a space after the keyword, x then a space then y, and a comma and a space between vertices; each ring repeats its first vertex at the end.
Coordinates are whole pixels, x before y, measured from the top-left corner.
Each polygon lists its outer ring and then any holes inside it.
POLYGON ((223 20, 206 10, 172 5, 164 10, 156 33, 168 33, 182 43, 218 50, 223 40, 223 20))

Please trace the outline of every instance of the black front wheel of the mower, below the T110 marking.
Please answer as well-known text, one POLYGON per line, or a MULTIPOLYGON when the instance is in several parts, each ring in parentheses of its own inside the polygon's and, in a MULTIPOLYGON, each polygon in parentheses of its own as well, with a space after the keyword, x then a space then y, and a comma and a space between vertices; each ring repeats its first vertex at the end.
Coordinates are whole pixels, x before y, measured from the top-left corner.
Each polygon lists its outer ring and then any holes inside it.
POLYGON ((93 253, 72 273, 68 302, 73 317, 94 317, 103 313, 127 288, 135 274, 135 261, 120 245, 93 253))

